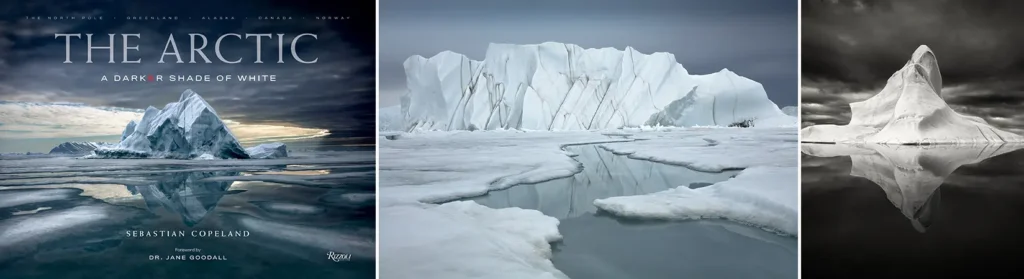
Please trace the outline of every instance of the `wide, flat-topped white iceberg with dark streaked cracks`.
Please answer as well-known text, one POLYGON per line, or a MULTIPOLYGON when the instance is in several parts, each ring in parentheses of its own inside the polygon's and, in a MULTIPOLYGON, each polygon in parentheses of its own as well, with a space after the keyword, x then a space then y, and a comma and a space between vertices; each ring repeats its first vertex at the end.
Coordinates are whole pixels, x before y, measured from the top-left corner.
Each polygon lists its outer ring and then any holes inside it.
POLYGON ((404 63, 401 130, 592 130, 640 126, 796 126, 760 83, 723 69, 690 75, 675 55, 632 47, 490 44, 404 63))

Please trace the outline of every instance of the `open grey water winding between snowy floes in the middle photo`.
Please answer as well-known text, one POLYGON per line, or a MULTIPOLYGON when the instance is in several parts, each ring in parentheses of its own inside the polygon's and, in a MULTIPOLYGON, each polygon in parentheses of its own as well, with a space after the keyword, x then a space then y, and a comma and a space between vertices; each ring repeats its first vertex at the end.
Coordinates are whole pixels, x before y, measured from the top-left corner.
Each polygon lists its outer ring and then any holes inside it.
POLYGON ((568 147, 575 175, 469 200, 537 209, 560 220, 552 262, 570 278, 796 278, 797 239, 728 221, 640 222, 609 216, 594 200, 679 186, 707 187, 738 171, 700 172, 630 159, 596 145, 568 147))

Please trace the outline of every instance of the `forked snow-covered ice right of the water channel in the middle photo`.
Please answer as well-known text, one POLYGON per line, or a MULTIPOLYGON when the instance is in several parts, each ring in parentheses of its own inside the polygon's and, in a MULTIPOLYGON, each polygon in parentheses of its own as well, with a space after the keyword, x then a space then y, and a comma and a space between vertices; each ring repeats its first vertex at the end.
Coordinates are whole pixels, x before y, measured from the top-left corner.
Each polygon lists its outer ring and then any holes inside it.
MULTIPOLYGON (((721 217, 797 235, 799 199, 796 131, 696 129, 653 133, 646 141, 605 144, 630 158, 702 171, 742 169, 709 187, 599 199, 594 205, 620 216, 654 220, 721 217), (698 136, 697 136, 698 135, 698 136)), ((646 134, 638 134, 644 137, 646 134)))

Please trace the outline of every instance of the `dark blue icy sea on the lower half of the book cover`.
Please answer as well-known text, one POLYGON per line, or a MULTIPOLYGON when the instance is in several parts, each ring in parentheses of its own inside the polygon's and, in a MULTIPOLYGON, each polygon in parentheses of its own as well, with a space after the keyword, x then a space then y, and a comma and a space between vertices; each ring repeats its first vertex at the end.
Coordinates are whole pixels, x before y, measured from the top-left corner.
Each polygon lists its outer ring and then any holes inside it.
POLYGON ((0 278, 374 278, 374 148, 323 141, 268 160, 0 156, 0 278), (191 236, 213 231, 249 234, 191 236))

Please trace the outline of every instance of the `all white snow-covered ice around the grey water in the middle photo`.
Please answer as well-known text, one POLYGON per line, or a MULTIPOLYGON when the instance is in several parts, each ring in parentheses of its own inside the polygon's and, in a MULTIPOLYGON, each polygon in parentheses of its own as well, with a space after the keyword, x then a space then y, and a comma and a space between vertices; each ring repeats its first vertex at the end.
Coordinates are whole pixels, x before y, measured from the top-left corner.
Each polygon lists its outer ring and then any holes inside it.
MULTIPOLYGON (((431 131, 394 138, 379 148, 379 260, 401 268, 382 269, 381 278, 564 278, 550 262, 548 243, 560 238, 556 218, 471 201, 429 203, 570 176, 582 169, 574 154, 561 150, 566 145, 597 144, 635 159, 706 170, 746 168, 688 197, 659 192, 607 199, 604 206, 631 209, 612 213, 727 217, 797 234, 795 128, 431 131), (642 208, 648 211, 633 207, 653 200, 660 203, 642 208)), ((689 190, 670 191, 679 189, 689 190)))

